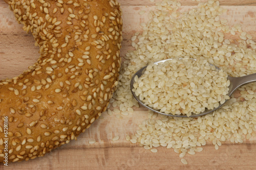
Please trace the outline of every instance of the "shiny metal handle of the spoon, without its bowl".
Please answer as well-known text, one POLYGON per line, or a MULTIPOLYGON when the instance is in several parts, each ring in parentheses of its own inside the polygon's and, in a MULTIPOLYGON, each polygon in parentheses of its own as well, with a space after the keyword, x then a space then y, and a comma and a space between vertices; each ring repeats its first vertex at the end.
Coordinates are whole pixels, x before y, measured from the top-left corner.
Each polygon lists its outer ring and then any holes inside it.
POLYGON ((231 95, 236 89, 241 87, 242 85, 256 82, 256 73, 243 76, 243 77, 229 77, 230 86, 229 92, 227 95, 231 95))

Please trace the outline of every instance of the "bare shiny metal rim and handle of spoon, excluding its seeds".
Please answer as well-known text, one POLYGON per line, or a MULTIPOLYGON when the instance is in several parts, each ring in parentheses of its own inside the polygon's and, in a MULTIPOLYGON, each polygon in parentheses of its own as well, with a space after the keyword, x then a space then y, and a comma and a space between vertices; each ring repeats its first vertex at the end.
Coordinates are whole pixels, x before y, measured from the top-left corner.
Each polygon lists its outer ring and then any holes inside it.
MULTIPOLYGON (((161 61, 157 61, 155 62, 154 64, 158 65, 158 63, 161 63, 161 62, 165 62, 165 61, 168 61, 168 60, 172 60, 172 59, 166 59, 166 60, 161 60, 161 61)), ((196 59, 193 59, 193 60, 196 60, 196 59)), ((212 65, 212 64, 211 64, 212 65)), ((141 101, 139 99, 138 96, 136 96, 135 92, 132 90, 134 87, 133 87, 133 84, 135 83, 134 79, 136 76, 138 76, 138 78, 140 78, 143 74, 144 74, 144 71, 146 70, 146 67, 147 66, 144 66, 143 68, 139 69, 135 75, 133 76, 132 80, 131 80, 131 91, 133 93, 133 96, 134 98, 144 107, 146 107, 147 109, 150 109, 156 113, 160 113, 160 114, 163 114, 163 115, 167 115, 167 116, 173 116, 173 117, 188 117, 186 115, 173 115, 173 114, 166 114, 166 113, 162 113, 160 112, 159 110, 155 110, 154 108, 150 107, 150 106, 147 106, 145 105, 145 103, 143 101, 141 101)), ((217 66, 215 66, 217 69, 220 69, 218 68, 217 66)), ((241 87, 242 85, 245 85, 245 84, 248 84, 248 83, 252 83, 252 82, 256 82, 256 73, 255 74, 251 74, 251 75, 247 75, 247 76, 243 76, 243 77, 230 77, 228 76, 227 77, 227 80, 230 81, 230 85, 229 85, 229 91, 227 93, 228 96, 231 96, 231 94, 236 91, 236 89, 238 89, 239 87, 241 87)), ((226 103, 228 100, 226 100, 224 103, 226 103)), ((197 116, 202 116, 202 115, 205 115, 205 114, 208 114, 208 113, 211 113, 217 109, 219 109, 220 107, 222 107, 223 104, 220 104, 219 107, 217 108, 214 108, 212 110, 208 110, 208 109, 205 109, 204 112, 201 112, 199 114, 195 114, 195 113, 192 113, 189 117, 197 117, 197 116)))

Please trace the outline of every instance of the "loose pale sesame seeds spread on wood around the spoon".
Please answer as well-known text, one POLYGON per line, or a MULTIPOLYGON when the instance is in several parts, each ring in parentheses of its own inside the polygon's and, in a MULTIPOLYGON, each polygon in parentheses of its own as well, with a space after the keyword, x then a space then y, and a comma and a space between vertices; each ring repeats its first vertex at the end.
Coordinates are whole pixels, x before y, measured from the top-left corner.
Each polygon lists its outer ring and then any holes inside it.
MULTIPOLYGON (((229 26, 227 20, 221 19, 226 10, 219 1, 199 3, 183 13, 178 10, 180 6, 177 1, 156 3, 156 10, 148 14, 149 21, 141 23, 142 32, 132 37, 135 50, 124 57, 118 88, 111 100, 117 112, 133 112, 133 106, 139 107, 130 92, 130 80, 150 62, 174 56, 203 57, 232 77, 256 72, 255 41, 240 25, 229 26), (228 39, 226 35, 239 38, 228 39)), ((242 86, 221 109, 198 118, 157 116, 149 111, 148 119, 126 140, 152 152, 160 146, 172 148, 184 164, 186 154, 201 152, 206 143, 212 143, 216 150, 225 141, 243 143, 256 135, 255 90, 254 83, 242 86)))

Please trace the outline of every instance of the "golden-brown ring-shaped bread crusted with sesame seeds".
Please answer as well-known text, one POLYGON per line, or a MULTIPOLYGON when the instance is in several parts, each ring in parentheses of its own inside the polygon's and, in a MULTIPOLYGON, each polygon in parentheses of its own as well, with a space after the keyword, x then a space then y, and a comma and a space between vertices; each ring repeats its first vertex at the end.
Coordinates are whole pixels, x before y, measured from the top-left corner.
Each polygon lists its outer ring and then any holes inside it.
POLYGON ((44 156, 91 126, 118 84, 122 41, 115 0, 6 3, 33 34, 40 58, 23 74, 0 81, 3 163, 6 155, 8 163, 44 156))

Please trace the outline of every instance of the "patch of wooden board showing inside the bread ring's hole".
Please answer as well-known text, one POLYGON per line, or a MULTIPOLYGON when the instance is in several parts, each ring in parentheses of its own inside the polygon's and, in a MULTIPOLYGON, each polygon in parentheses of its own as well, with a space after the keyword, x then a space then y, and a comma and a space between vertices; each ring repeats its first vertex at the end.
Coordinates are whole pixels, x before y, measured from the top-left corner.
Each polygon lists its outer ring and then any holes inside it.
POLYGON ((40 55, 34 37, 23 31, 23 25, 17 23, 9 8, 1 11, 0 17, 7 23, 0 30, 0 80, 3 80, 22 74, 40 55))

